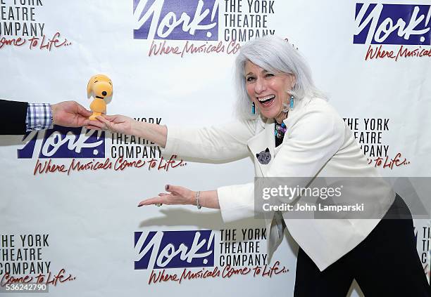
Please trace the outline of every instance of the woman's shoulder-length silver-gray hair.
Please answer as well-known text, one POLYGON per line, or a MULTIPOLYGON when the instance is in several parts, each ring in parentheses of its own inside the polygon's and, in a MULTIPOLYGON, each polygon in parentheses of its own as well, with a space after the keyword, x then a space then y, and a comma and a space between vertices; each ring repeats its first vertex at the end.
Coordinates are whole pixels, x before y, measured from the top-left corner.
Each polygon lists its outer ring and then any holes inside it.
POLYGON ((304 97, 325 98, 325 95, 314 86, 311 70, 299 52, 285 39, 267 35, 246 42, 235 60, 235 84, 237 87, 236 115, 241 119, 256 119, 251 113, 251 100, 246 91, 245 63, 250 61, 255 65, 273 73, 293 74, 296 84, 292 90, 286 90, 295 100, 304 97))

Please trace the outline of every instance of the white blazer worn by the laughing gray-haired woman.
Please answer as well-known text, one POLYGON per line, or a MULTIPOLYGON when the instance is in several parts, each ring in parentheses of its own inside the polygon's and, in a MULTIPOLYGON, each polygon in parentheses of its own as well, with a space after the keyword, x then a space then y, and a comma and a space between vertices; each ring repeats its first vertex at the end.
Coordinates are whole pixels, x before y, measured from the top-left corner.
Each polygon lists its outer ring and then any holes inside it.
MULTIPOLYGON (((277 148, 271 120, 235 121, 210 128, 169 126, 163 154, 204 162, 232 161, 251 155, 257 177, 379 177, 377 170, 368 165, 350 128, 325 100, 296 100, 284 122, 287 132, 277 148), (268 164, 261 164, 256 154, 267 147, 272 157, 268 164)), ((219 187, 217 193, 225 222, 254 216, 254 183, 219 187)), ((368 189, 361 192, 360 202, 372 204, 385 214, 394 197, 390 187, 377 192, 368 189)), ((320 270, 354 249, 380 221, 289 219, 288 212, 283 217, 292 237, 320 270)), ((268 218, 267 238, 271 223, 272 218, 268 218)), ((270 258, 276 246, 267 242, 270 258)))

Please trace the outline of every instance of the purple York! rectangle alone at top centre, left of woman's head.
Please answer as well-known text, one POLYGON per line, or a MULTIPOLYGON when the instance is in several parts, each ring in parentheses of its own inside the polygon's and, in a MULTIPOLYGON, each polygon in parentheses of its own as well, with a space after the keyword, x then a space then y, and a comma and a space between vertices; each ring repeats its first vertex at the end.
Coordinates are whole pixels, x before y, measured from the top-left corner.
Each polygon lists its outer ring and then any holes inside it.
POLYGON ((218 0, 133 0, 134 39, 218 40, 218 0))

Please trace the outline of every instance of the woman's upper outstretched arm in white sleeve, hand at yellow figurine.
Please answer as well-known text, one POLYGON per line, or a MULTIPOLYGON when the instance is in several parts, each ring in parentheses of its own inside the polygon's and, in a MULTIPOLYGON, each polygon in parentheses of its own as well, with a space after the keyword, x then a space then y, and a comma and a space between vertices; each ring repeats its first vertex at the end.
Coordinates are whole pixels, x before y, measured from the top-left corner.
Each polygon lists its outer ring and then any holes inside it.
POLYGON ((149 124, 118 114, 97 119, 91 121, 87 128, 144 138, 162 147, 162 154, 176 154, 182 159, 204 163, 223 163, 248 157, 247 141, 256 131, 256 123, 246 120, 194 128, 149 124))

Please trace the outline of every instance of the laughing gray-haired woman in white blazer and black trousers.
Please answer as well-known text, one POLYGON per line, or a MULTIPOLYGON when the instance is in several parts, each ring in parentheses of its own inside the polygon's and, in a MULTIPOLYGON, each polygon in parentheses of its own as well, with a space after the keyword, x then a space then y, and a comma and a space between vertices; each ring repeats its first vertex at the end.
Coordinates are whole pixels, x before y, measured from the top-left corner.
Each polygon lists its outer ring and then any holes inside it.
MULTIPOLYGON (((314 86, 304 59, 287 41, 270 36, 249 41, 239 51, 235 67, 237 121, 182 128, 114 115, 98 117, 89 128, 151 140, 168 156, 205 162, 252 157, 256 177, 287 177, 292 187, 298 176, 306 177, 304 185, 320 176, 379 178, 351 130, 314 86)), ((192 204, 220 209, 227 222, 254 216, 254 186, 195 192, 166 185, 165 193, 138 206, 192 204)), ((356 195, 357 202, 379 209, 382 216, 401 218, 402 212, 409 219, 294 220, 289 211, 264 213, 268 258, 285 227, 300 246, 294 296, 344 297, 353 279, 366 296, 428 296, 406 204, 389 187, 368 190, 356 195)))

